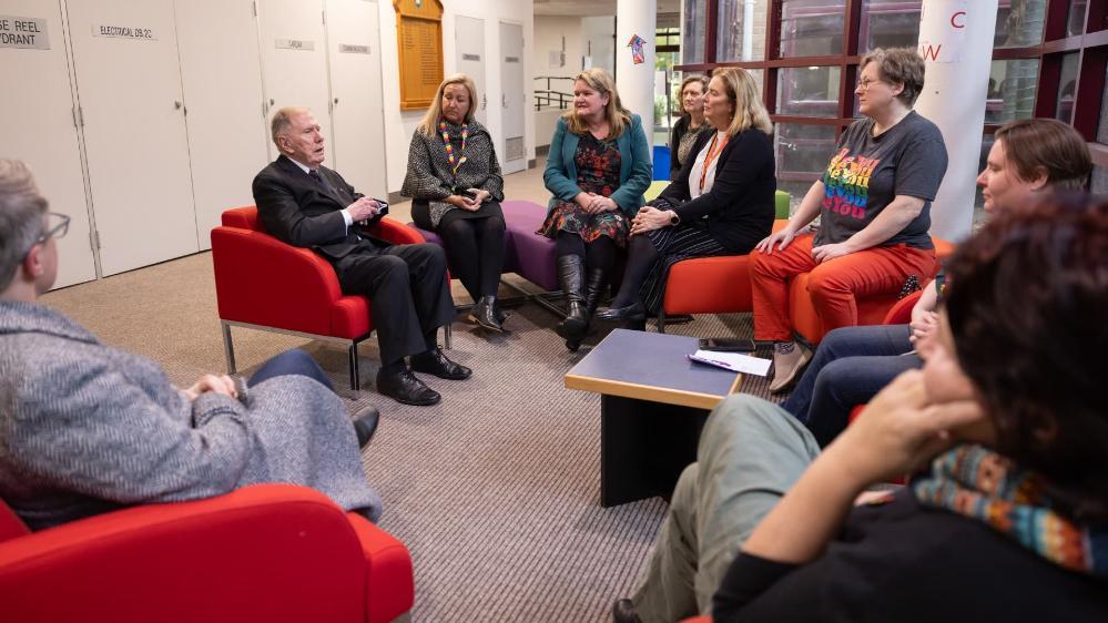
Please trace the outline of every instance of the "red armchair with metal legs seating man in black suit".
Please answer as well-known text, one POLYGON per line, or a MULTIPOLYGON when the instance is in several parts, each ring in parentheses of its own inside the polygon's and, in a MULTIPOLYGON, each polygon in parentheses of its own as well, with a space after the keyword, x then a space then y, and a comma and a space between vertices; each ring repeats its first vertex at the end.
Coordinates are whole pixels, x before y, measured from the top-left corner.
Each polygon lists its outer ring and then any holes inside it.
MULTIPOLYGON (((388 217, 380 219, 374 235, 394 244, 424 242, 415 229, 388 217)), ((360 389, 358 344, 374 328, 369 302, 344 295, 327 261, 266 234, 251 205, 223 213, 223 225, 212 229, 212 263, 231 374, 235 372, 231 327, 237 326, 346 346, 350 388, 360 389)), ((445 333, 449 348, 449 326, 445 333)))

